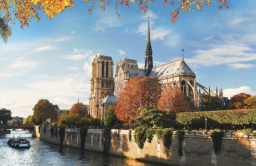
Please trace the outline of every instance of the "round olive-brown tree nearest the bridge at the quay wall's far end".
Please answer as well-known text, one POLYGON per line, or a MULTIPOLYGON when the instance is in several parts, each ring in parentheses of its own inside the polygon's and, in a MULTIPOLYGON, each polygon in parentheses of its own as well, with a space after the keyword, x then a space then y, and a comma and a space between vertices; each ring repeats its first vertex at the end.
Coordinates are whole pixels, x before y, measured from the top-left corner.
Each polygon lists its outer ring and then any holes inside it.
POLYGON ((55 110, 52 103, 45 99, 40 99, 33 108, 33 111, 36 122, 43 125, 47 119, 53 121, 58 115, 58 111, 55 110))

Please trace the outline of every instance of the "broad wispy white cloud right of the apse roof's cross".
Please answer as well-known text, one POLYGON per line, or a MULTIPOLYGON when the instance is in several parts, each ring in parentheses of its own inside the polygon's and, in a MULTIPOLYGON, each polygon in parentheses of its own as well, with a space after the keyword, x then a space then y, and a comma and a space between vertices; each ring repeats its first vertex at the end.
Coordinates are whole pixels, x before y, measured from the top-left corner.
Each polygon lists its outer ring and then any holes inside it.
MULTIPOLYGON (((193 58, 186 58, 186 62, 194 68, 226 64, 233 69, 239 69, 246 67, 241 62, 256 60, 255 50, 243 42, 240 35, 221 34, 220 39, 211 43, 191 41, 189 44, 198 48, 194 51, 196 55, 193 58)), ((248 67, 252 68, 253 65, 248 67)))

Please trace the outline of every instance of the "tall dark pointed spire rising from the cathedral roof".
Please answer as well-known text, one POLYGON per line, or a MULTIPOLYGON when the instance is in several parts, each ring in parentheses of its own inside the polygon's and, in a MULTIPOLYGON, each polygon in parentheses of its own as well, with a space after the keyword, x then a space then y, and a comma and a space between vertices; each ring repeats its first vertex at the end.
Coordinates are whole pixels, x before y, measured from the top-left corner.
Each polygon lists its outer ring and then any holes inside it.
POLYGON ((153 68, 153 57, 152 57, 152 46, 150 42, 150 23, 148 15, 148 35, 147 35, 147 44, 145 49, 145 73, 146 76, 149 76, 151 69, 153 68))

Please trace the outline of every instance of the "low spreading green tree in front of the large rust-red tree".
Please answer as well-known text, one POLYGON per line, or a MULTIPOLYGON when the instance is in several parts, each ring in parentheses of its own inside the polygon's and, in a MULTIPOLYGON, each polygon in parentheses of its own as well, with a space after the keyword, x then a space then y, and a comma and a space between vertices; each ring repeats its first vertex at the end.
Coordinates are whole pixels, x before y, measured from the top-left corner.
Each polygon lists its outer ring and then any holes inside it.
POLYGON ((136 122, 144 127, 169 128, 173 124, 173 116, 165 111, 160 111, 154 107, 139 108, 140 115, 136 122))

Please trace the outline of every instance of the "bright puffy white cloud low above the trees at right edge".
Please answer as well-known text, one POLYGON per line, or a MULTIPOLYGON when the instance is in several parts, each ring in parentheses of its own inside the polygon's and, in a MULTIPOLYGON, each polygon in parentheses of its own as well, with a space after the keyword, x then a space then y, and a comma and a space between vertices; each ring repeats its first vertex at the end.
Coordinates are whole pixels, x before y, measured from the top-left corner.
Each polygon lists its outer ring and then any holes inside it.
POLYGON ((223 90, 223 96, 228 97, 228 98, 230 98, 236 94, 239 94, 239 93, 247 93, 252 96, 256 95, 256 92, 253 91, 252 88, 249 86, 241 86, 239 88, 229 88, 229 89, 223 90))

